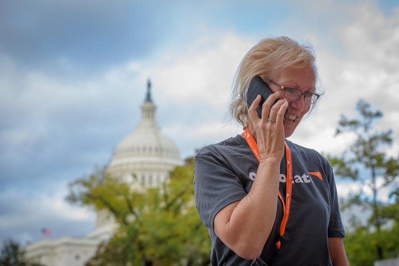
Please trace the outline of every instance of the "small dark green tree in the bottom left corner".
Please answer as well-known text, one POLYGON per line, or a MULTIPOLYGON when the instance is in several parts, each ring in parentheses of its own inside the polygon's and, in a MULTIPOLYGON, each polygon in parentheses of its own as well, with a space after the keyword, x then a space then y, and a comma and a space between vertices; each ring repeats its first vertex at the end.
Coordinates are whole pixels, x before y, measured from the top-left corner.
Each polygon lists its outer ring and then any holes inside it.
POLYGON ((36 263, 28 263, 25 253, 19 248, 18 242, 6 239, 2 243, 0 254, 0 266, 42 266, 36 263))

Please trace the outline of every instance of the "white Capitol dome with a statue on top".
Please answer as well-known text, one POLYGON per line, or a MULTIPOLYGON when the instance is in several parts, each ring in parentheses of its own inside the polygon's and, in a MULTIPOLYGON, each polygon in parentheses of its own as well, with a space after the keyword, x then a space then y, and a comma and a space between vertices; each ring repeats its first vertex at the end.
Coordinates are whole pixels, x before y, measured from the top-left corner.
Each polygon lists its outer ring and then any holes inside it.
MULTIPOLYGON (((141 105, 140 125, 119 142, 107 168, 112 176, 121 178, 132 189, 138 190, 167 182, 169 172, 183 165, 177 145, 156 124, 156 106, 151 100, 150 90, 151 83, 148 81, 147 97, 141 105)), ((96 229, 89 238, 109 239, 114 225, 108 211, 98 211, 96 229)))

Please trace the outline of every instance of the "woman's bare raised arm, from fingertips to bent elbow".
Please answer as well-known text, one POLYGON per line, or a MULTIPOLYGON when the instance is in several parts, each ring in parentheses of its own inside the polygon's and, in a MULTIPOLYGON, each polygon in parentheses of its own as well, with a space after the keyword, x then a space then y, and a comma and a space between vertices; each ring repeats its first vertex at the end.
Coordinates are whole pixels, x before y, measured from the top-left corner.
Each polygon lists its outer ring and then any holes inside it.
MULTIPOLYGON (((248 130, 259 147, 260 163, 249 193, 221 209, 213 220, 213 230, 238 256, 253 260, 260 255, 273 228, 277 212, 280 162, 284 156, 283 118, 287 100, 278 101, 279 93, 269 96, 262 106, 262 119, 256 108, 258 96, 249 108, 248 130), (268 118, 276 122, 269 122, 268 118)), ((248 177, 249 178, 249 177, 248 177)))

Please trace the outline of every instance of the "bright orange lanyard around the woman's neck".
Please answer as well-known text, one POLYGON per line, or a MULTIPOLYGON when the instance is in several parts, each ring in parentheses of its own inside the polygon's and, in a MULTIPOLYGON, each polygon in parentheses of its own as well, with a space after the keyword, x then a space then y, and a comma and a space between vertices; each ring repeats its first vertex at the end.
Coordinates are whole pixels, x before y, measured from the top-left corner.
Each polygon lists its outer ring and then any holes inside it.
MULTIPOLYGON (((259 148, 258 144, 256 143, 255 139, 253 139, 251 133, 249 132, 248 128, 245 129, 244 131, 244 136, 246 142, 248 142, 249 147, 251 148, 253 154, 255 154, 256 158, 258 161, 260 161, 259 157, 259 148)), ((280 191, 278 191, 278 197, 280 198, 282 204, 283 204, 283 211, 284 211, 284 216, 283 220, 281 221, 280 224, 280 239, 276 243, 276 247, 279 250, 280 245, 281 245, 281 238, 284 235, 285 231, 285 225, 287 224, 288 221, 288 216, 290 214, 290 206, 291 206, 291 192, 292 192, 292 157, 291 157, 291 150, 287 145, 287 142, 284 141, 285 144, 285 153, 286 153, 286 159, 287 159, 287 182, 286 182, 286 196, 285 196, 285 203, 283 200, 283 197, 281 196, 280 191)))

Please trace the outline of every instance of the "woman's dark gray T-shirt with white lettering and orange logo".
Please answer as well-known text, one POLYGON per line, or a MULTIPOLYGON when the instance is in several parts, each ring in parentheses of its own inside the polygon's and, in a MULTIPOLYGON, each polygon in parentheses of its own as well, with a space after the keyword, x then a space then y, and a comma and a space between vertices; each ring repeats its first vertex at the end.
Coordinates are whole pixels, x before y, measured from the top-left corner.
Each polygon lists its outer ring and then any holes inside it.
MULTIPOLYGON (((293 166, 291 208, 273 266, 331 266, 328 238, 345 237, 333 169, 317 151, 287 139, 286 142, 291 149, 293 166), (310 172, 320 172, 321 176, 310 172)), ((223 207, 248 194, 258 166, 258 160, 240 135, 203 147, 195 156, 196 207, 212 241, 212 266, 251 264, 251 261, 236 255, 216 236, 213 219, 223 207)), ((285 154, 280 164, 279 178, 280 193, 285 195, 285 154)), ((268 265, 280 236, 282 217, 283 207, 281 200, 278 200, 273 229, 260 255, 268 265)))

